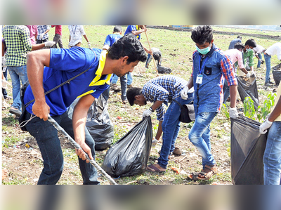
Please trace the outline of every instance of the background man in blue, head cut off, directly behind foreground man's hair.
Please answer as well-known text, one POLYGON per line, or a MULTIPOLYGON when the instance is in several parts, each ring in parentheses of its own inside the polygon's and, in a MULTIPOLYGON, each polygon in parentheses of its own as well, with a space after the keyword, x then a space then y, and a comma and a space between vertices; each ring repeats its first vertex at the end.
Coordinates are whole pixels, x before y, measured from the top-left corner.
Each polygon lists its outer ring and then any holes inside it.
MULTIPOLYGON (((143 32, 147 32, 147 28, 145 27, 145 25, 128 25, 126 32, 124 35, 132 33, 133 35, 136 36, 136 38, 138 38, 138 40, 141 41, 141 33, 143 32)), ((149 51, 147 48, 145 48, 145 46, 143 46, 143 48, 145 49, 146 53, 152 54, 151 51, 149 51)), ((127 87, 131 88, 133 83, 133 76, 131 73, 128 74, 128 81, 127 81, 127 87)))

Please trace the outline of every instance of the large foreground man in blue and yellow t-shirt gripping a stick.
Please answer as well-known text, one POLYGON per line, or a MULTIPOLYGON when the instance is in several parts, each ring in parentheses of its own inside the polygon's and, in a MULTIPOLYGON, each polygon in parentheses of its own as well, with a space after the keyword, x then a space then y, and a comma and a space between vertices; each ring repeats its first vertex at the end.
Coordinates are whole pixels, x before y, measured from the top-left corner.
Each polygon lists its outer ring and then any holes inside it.
MULTIPOLYGON (((27 76, 30 86, 24 96, 26 129, 39 145, 44 159, 44 169, 38 184, 55 184, 63 172, 63 152, 58 131, 48 122, 48 113, 89 155, 95 158, 95 143, 86 129, 89 107, 109 86, 111 74, 122 77, 133 71, 139 61, 145 62, 146 54, 136 37, 122 37, 108 51, 81 47, 51 48, 27 54, 27 76), (120 50, 122 49, 122 50, 120 50), (87 71, 85 71, 87 70, 87 71), (44 96, 44 92, 62 84, 77 74, 79 77, 44 96), (67 107, 80 98, 73 114, 67 107), (35 115, 35 116, 34 116, 35 115)), ((76 150, 84 184, 98 184, 96 169, 87 164, 85 153, 76 150)))

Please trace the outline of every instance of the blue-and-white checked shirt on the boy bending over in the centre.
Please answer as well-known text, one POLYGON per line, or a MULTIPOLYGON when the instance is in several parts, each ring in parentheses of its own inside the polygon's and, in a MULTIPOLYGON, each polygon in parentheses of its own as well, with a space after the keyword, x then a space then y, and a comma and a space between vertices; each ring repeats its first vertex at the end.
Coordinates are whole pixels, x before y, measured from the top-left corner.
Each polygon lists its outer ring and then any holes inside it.
MULTIPOLYGON (((143 96, 145 100, 155 102, 156 100, 163 101, 168 105, 171 100, 181 97, 181 90, 188 84, 188 81, 175 76, 162 76, 151 79, 143 86, 143 96)), ((157 109, 157 119, 163 121, 164 119, 164 105, 160 105, 157 109)))

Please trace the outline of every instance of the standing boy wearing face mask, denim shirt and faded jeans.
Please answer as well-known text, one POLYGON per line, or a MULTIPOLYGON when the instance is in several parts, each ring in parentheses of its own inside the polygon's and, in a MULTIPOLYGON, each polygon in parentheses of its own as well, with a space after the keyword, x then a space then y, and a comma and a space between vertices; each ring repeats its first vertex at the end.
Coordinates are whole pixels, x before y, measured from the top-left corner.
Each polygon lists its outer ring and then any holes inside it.
MULTIPOLYGON (((191 39, 195 42, 193 67, 188 85, 183 88, 183 96, 194 86, 195 122, 188 138, 202 155, 203 169, 200 173, 190 173, 189 178, 196 181, 207 180, 217 173, 217 166, 211 154, 210 124, 223 104, 224 79, 230 86, 230 110, 232 118, 237 118, 236 96, 237 79, 230 58, 214 44, 213 29, 198 26, 192 29, 191 39)), ((186 96, 188 97, 188 96, 186 96)))

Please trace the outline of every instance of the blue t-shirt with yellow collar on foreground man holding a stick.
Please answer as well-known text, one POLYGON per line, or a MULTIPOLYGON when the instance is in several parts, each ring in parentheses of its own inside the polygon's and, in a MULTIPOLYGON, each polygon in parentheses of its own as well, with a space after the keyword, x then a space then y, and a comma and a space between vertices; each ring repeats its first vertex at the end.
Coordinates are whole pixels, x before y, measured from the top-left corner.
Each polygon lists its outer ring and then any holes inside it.
MULTIPOLYGON (((45 92, 91 66, 84 74, 70 81, 70 84, 65 84, 45 96, 51 116, 63 114, 76 98, 88 94, 98 98, 109 87, 111 74, 102 75, 106 51, 81 47, 51 48, 50 50, 50 66, 44 67, 43 75, 45 92)), ((33 99, 32 89, 28 86, 24 103, 33 99)), ((27 106, 27 112, 32 113, 32 105, 33 103, 27 106)))

